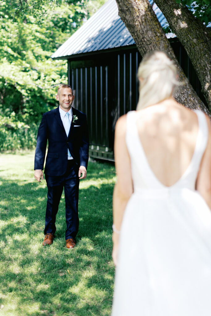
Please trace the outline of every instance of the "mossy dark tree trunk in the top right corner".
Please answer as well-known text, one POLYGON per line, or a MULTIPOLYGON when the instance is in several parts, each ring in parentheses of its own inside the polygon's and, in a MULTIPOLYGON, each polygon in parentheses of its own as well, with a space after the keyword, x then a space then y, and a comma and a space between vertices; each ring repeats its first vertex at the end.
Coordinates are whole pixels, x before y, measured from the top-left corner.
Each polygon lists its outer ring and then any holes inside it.
POLYGON ((211 111, 211 29, 175 0, 156 0, 155 3, 186 50, 211 111))

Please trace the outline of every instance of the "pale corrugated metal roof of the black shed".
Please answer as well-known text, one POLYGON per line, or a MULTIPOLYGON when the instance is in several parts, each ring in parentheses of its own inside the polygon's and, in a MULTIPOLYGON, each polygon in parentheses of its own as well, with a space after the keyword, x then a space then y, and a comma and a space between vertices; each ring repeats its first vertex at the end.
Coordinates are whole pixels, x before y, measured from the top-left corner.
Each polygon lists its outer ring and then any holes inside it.
MULTIPOLYGON (((167 21, 155 3, 153 10, 164 27, 167 21)), ((166 36, 175 37, 175 34, 168 33, 166 36)), ((133 44, 133 37, 118 15, 116 1, 108 0, 51 57, 64 58, 133 44)))

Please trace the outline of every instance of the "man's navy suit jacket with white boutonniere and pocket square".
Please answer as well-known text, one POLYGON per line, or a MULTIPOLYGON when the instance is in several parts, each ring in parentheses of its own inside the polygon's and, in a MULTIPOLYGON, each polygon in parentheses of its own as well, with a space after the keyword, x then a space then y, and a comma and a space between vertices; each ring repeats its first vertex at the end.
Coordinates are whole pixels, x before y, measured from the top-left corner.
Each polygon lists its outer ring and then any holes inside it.
POLYGON ((86 115, 72 107, 72 121, 69 135, 66 135, 59 106, 42 116, 37 133, 37 146, 34 158, 34 170, 44 168, 46 146, 48 140, 48 151, 46 157, 45 171, 50 176, 61 176, 67 168, 67 149, 79 166, 87 168, 89 159, 89 134, 86 115), (73 123, 73 116, 78 120, 73 123))

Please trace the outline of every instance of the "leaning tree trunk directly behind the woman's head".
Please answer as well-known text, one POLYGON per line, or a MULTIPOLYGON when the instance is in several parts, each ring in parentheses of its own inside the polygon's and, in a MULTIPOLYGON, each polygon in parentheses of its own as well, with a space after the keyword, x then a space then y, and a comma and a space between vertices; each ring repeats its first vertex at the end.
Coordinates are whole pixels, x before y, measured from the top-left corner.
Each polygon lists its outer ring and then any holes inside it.
POLYGON ((116 0, 119 15, 133 36, 136 46, 144 57, 153 50, 164 51, 174 60, 179 81, 185 82, 174 97, 177 102, 191 109, 201 109, 208 114, 208 109, 198 97, 186 78, 173 49, 148 0, 116 0))

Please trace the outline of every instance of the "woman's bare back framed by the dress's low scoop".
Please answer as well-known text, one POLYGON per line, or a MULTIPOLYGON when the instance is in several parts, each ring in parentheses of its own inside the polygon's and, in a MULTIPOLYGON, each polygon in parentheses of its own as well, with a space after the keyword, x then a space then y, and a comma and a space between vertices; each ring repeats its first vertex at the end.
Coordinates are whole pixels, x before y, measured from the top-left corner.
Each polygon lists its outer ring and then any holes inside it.
POLYGON ((137 113, 136 124, 148 163, 157 179, 171 186, 192 159, 198 135, 197 115, 173 99, 137 113))

